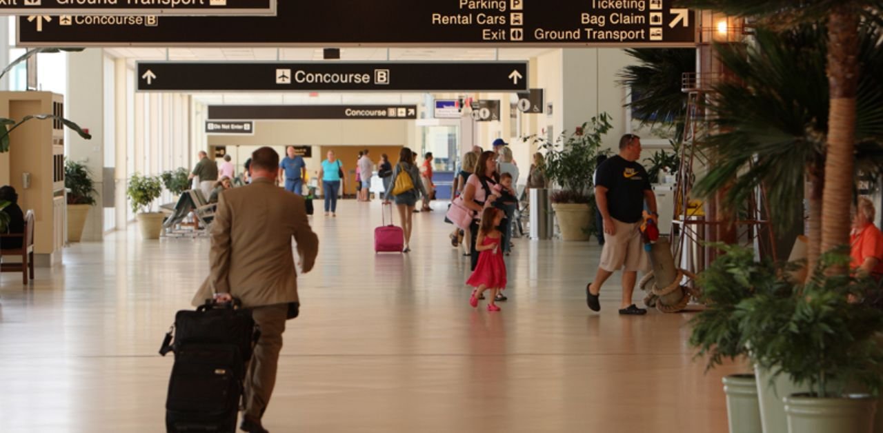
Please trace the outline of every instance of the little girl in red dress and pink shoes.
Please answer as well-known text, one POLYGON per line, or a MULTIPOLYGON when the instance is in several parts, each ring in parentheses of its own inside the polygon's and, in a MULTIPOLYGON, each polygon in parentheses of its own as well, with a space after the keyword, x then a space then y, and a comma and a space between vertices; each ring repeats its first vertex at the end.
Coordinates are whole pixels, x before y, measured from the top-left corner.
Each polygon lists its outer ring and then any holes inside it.
POLYGON ((500 246, 502 233, 496 229, 500 226, 502 218, 502 211, 493 207, 487 207, 481 213, 479 238, 476 239, 475 246, 475 250, 479 251, 479 263, 469 280, 466 280, 467 285, 475 287, 475 290, 472 290, 472 297, 469 298, 469 304, 473 308, 479 306, 479 297, 489 289, 491 296, 490 301, 487 302, 487 310, 500 310, 500 307, 494 303, 494 298, 500 290, 506 288, 506 264, 503 262, 500 246))

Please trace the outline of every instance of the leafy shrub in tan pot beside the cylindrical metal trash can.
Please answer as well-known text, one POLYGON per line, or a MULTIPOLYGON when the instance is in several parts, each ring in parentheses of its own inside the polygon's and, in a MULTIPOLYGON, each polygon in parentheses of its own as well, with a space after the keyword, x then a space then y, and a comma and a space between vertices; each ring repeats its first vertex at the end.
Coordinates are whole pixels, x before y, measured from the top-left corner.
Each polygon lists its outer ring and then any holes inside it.
POLYGON ((536 136, 523 138, 533 139, 546 151, 547 178, 560 188, 550 199, 564 241, 586 241, 592 235, 592 175, 595 160, 603 153, 601 138, 611 128, 610 116, 601 113, 570 136, 562 133, 554 143, 536 136))

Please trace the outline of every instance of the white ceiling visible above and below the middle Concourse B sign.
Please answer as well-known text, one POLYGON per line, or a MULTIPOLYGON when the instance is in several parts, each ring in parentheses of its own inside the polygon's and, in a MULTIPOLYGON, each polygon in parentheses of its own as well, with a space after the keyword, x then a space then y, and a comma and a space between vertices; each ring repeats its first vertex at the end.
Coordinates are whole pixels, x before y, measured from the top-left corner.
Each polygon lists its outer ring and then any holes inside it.
MULTIPOLYGON (((136 61, 177 62, 312 62, 322 61, 322 49, 313 48, 114 48, 110 56, 136 61)), ((449 49, 449 48, 342 48, 343 62, 476 62, 527 61, 552 49, 449 49)), ((328 62, 338 62, 329 60, 328 62)), ((206 105, 335 105, 419 104, 421 93, 192 93, 206 105)))

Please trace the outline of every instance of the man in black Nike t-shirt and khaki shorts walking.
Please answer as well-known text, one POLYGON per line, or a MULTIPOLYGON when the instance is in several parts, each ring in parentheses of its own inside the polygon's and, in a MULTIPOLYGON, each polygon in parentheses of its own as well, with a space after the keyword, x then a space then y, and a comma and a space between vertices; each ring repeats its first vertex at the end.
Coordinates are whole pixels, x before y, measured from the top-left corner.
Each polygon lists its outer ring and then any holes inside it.
POLYGON ((644 202, 656 216, 656 196, 650 187, 647 171, 638 164, 641 138, 625 134, 619 141, 619 154, 604 161, 595 179, 595 198, 604 221, 604 250, 595 280, 585 287, 586 303, 593 311, 600 310, 601 286, 623 269, 623 303, 619 314, 643 315, 631 302, 638 280, 638 271, 647 268, 647 256, 641 241, 641 220, 644 202))

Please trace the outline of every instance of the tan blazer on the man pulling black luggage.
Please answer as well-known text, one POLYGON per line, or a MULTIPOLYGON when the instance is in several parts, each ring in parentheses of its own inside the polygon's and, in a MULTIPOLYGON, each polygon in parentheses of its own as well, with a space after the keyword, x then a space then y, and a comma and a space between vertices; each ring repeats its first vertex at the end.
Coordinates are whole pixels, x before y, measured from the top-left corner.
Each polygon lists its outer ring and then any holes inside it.
POLYGON ((306 220, 304 198, 264 178, 223 191, 211 227, 211 272, 193 305, 214 293, 230 293, 245 308, 298 301, 292 237, 302 269, 309 271, 319 252, 319 237, 306 220))

